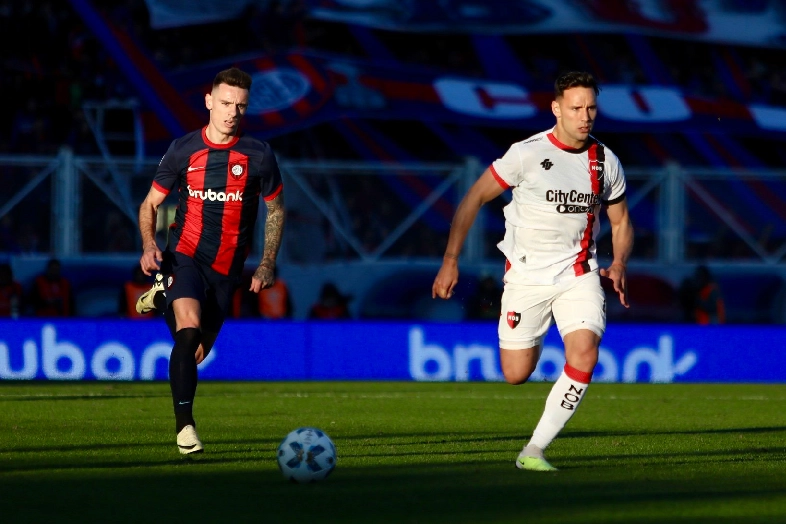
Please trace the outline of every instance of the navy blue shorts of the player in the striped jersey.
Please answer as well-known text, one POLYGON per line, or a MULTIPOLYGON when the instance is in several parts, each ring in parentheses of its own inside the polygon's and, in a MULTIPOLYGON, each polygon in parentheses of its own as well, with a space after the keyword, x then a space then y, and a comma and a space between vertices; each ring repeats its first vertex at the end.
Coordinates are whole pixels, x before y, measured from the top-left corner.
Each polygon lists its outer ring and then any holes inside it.
POLYGON ((178 298, 199 300, 202 330, 218 333, 224 325, 240 278, 222 275, 189 256, 171 251, 164 252, 161 272, 164 274, 167 308, 178 298))

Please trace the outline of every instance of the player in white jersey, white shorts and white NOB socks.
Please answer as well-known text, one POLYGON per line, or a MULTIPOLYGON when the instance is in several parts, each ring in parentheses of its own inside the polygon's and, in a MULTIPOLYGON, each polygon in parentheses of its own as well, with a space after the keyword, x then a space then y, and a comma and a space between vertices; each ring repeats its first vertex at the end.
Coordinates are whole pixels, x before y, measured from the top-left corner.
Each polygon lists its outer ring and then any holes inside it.
POLYGON ((600 276, 611 279, 620 302, 629 307, 625 268, 633 225, 622 166, 590 135, 599 92, 589 73, 566 73, 556 80, 551 102, 556 125, 513 144, 469 189, 456 209, 432 286, 433 298, 453 296, 459 253, 478 211, 512 189, 504 209, 505 236, 498 244, 507 259, 498 327, 502 373, 510 384, 527 381, 552 322, 566 359, 532 438, 516 459, 520 469, 556 469, 543 451, 579 407, 606 329, 600 276), (596 258, 601 206, 611 224, 614 251, 607 268, 599 268, 596 258))

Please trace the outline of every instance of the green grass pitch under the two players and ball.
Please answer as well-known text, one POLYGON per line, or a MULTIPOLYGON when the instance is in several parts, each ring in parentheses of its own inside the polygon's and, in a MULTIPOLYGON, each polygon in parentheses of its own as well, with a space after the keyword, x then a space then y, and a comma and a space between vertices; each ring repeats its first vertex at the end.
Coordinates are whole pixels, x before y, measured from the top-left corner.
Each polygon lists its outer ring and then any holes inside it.
POLYGON ((199 384, 181 457, 166 383, 0 383, 0 522, 786 522, 786 387, 593 384, 548 450, 514 459, 550 384, 199 384), (325 481, 278 471, 316 426, 325 481))

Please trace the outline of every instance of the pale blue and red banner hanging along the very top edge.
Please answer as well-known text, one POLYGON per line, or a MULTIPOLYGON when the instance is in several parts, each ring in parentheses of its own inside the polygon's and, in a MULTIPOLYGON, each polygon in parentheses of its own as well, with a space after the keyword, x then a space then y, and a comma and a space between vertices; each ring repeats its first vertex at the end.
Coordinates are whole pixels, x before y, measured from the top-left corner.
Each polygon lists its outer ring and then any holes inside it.
MULTIPOLYGON (((238 18, 263 0, 145 0, 154 29, 238 18)), ((284 2, 286 3, 286 2, 284 2)), ((679 0, 302 0, 308 17, 393 31, 473 34, 638 33, 781 48, 778 2, 679 0)))

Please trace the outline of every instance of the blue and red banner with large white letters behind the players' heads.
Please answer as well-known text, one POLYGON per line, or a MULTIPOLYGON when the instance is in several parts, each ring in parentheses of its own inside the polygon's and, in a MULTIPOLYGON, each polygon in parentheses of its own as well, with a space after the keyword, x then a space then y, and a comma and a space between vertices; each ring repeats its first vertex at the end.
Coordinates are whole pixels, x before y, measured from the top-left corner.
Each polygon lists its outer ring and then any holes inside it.
MULTIPOLYGON (((532 89, 523 81, 324 53, 293 52, 231 64, 252 75, 243 125, 263 139, 342 118, 530 130, 554 123, 551 91, 532 89)), ((169 78, 195 110, 204 110, 204 95, 215 73, 211 64, 169 78)), ((697 97, 676 86, 607 84, 598 105, 598 128, 607 132, 786 132, 786 108, 697 97)))

